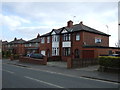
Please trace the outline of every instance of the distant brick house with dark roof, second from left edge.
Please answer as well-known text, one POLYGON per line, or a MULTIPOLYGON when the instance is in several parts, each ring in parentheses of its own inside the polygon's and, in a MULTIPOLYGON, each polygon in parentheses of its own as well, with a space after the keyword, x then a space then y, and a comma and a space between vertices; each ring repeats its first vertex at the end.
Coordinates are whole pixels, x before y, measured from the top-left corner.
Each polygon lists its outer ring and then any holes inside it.
POLYGON ((24 49, 25 40, 14 38, 13 41, 8 42, 6 44, 7 50, 10 51, 12 54, 23 55, 25 54, 24 49))

